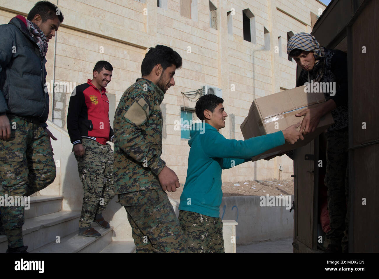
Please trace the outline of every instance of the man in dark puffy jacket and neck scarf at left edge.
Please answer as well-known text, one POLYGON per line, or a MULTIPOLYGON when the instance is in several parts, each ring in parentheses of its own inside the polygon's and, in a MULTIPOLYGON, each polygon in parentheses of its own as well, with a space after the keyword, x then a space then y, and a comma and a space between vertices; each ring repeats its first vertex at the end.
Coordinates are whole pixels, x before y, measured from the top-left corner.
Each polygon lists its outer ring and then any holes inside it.
POLYGON ((54 4, 40 1, 27 19, 16 16, 0 25, 0 234, 7 252, 26 252, 22 225, 24 207, 11 197, 25 197, 47 187, 56 169, 46 129, 49 95, 46 88, 47 42, 55 36, 63 15, 54 4))

